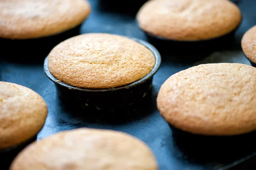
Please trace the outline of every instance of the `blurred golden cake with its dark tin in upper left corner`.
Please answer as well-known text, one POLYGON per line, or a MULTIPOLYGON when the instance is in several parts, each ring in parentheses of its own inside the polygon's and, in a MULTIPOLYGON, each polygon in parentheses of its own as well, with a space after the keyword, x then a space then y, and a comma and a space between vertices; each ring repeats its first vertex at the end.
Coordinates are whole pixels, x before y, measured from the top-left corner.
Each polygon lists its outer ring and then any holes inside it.
MULTIPOLYGON (((61 41, 78 35, 89 14, 87 0, 0 1, 0 44, 22 55, 31 50, 33 55, 49 53, 61 41)), ((6 54, 9 57, 10 50, 6 54)))

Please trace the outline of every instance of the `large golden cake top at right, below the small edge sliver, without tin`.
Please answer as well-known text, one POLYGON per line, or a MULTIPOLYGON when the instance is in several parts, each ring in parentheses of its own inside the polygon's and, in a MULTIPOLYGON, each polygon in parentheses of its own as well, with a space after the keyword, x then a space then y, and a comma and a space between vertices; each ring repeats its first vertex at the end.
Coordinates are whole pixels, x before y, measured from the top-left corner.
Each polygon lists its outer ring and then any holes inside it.
POLYGON ((157 108, 172 126, 200 135, 256 130, 256 68, 240 63, 202 64, 172 75, 157 108))

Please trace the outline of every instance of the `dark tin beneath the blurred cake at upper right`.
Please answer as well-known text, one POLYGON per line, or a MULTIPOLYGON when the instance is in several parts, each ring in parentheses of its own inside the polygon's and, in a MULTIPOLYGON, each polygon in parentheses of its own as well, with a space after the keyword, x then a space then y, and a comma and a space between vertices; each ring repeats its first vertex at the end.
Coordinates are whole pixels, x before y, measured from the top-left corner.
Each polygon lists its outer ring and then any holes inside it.
MULTIPOLYGON (((241 21, 242 21, 242 18, 241 18, 241 21)), ((143 29, 140 28, 137 18, 135 18, 135 23, 137 27, 145 33, 145 35, 148 38, 148 41, 152 43, 157 49, 159 49, 160 51, 170 49, 172 52, 176 54, 187 53, 189 55, 191 55, 191 52, 204 53, 204 52, 209 52, 209 50, 216 50, 218 48, 221 48, 221 46, 224 43, 227 43, 228 41, 234 38, 236 30, 239 28, 241 21, 239 25, 232 32, 226 35, 215 37, 212 39, 207 39, 207 40, 187 40, 186 41, 186 40, 171 40, 171 39, 152 35, 148 32, 145 32, 143 29)), ((191 56, 188 56, 188 57, 191 57, 191 56)))

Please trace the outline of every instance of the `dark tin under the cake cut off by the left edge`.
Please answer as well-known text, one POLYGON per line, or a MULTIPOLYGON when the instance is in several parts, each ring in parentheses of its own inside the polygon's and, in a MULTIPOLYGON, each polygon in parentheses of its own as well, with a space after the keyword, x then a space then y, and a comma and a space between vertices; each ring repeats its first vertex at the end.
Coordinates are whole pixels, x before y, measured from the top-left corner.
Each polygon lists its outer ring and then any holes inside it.
POLYGON ((9 166, 11 165, 13 159, 17 156, 17 154, 26 146, 28 146, 29 144, 36 140, 37 134, 30 138, 29 140, 23 142, 22 144, 18 144, 14 147, 8 147, 6 149, 0 150, 0 160, 4 160, 3 162, 1 161, 1 167, 3 167, 3 169, 9 169, 9 166))

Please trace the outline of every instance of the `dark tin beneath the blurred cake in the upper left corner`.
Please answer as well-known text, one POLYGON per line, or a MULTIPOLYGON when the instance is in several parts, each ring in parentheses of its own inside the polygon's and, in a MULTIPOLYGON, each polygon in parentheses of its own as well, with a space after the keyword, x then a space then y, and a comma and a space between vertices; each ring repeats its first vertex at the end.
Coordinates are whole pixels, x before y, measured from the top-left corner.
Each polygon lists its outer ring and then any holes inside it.
POLYGON ((7 60, 15 59, 16 61, 36 61, 38 58, 44 58, 52 50, 52 48, 61 41, 79 35, 80 27, 81 24, 67 31, 40 38, 14 40, 0 38, 0 58, 3 56, 8 56, 8 58, 6 58, 7 60))

